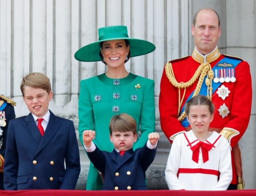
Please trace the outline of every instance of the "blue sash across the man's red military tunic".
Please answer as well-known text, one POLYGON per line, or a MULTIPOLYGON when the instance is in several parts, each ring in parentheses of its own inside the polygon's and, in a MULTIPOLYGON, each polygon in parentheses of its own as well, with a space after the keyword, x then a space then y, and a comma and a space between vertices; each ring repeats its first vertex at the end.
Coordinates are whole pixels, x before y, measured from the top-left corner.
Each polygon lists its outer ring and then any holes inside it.
MULTIPOLYGON (((237 65, 242 62, 241 60, 237 60, 237 59, 234 59, 234 58, 230 58, 230 57, 225 57, 225 58, 222 58, 222 60, 220 60, 219 62, 216 63, 216 65, 214 65, 214 67, 212 68, 213 72, 215 73, 215 70, 217 70, 217 73, 219 72, 218 70, 219 69, 227 69, 227 68, 235 68, 237 67, 237 65), (231 64, 232 67, 218 67, 217 65, 220 64, 220 63, 227 63, 227 64, 231 64)), ((199 95, 207 95, 207 86, 205 85, 205 79, 206 79, 206 76, 203 80, 203 84, 202 84, 202 87, 199 91, 199 95)), ((222 83, 221 82, 218 82, 218 83, 215 83, 215 82, 212 82, 212 87, 213 87, 213 93, 218 89, 218 87, 221 85, 222 83)), ((195 90, 194 90, 195 91, 195 90)), ((185 101, 185 104, 184 106, 182 107, 181 111, 180 111, 180 114, 182 114, 185 110, 185 105, 187 104, 188 100, 190 100, 194 94, 194 91, 191 93, 191 95, 188 97, 188 99, 185 101)), ((188 123, 188 120, 187 120, 187 117, 181 122, 182 126, 184 127, 188 127, 189 123, 188 123)))

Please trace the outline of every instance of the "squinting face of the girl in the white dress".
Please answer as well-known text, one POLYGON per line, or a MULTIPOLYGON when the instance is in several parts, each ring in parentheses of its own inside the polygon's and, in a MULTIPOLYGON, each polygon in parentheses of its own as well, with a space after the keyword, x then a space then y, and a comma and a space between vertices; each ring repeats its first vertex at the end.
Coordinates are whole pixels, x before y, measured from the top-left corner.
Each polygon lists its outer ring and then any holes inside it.
POLYGON ((191 105, 187 118, 193 131, 200 134, 208 132, 213 115, 211 115, 207 105, 191 105))

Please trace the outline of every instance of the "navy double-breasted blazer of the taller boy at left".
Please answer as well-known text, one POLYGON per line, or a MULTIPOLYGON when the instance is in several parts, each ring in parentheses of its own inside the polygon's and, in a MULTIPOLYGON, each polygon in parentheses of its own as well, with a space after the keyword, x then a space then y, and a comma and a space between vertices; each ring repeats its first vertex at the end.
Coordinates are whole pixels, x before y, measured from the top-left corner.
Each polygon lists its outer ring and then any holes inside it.
POLYGON ((31 113, 10 120, 5 151, 5 190, 74 189, 79 173, 79 150, 71 120, 50 111, 43 137, 31 113))

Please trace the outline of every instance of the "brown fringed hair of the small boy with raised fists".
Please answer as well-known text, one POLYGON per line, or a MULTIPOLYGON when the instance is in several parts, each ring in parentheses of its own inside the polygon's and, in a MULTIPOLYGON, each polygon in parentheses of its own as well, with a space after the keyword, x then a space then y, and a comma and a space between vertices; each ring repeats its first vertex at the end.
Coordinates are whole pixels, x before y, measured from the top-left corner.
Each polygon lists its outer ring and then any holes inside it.
POLYGON ((134 118, 126 113, 115 115, 111 118, 109 123, 109 132, 112 134, 113 131, 127 132, 132 131, 133 134, 137 134, 136 121, 134 118))

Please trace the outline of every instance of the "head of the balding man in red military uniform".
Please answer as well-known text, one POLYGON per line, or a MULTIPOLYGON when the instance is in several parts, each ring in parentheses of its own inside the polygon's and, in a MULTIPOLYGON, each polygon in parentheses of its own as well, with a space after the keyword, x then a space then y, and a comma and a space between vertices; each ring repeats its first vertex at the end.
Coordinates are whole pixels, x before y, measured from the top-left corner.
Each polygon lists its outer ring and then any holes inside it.
POLYGON ((221 36, 217 14, 213 10, 198 12, 196 23, 192 25, 192 35, 199 53, 204 55, 211 53, 221 36))

